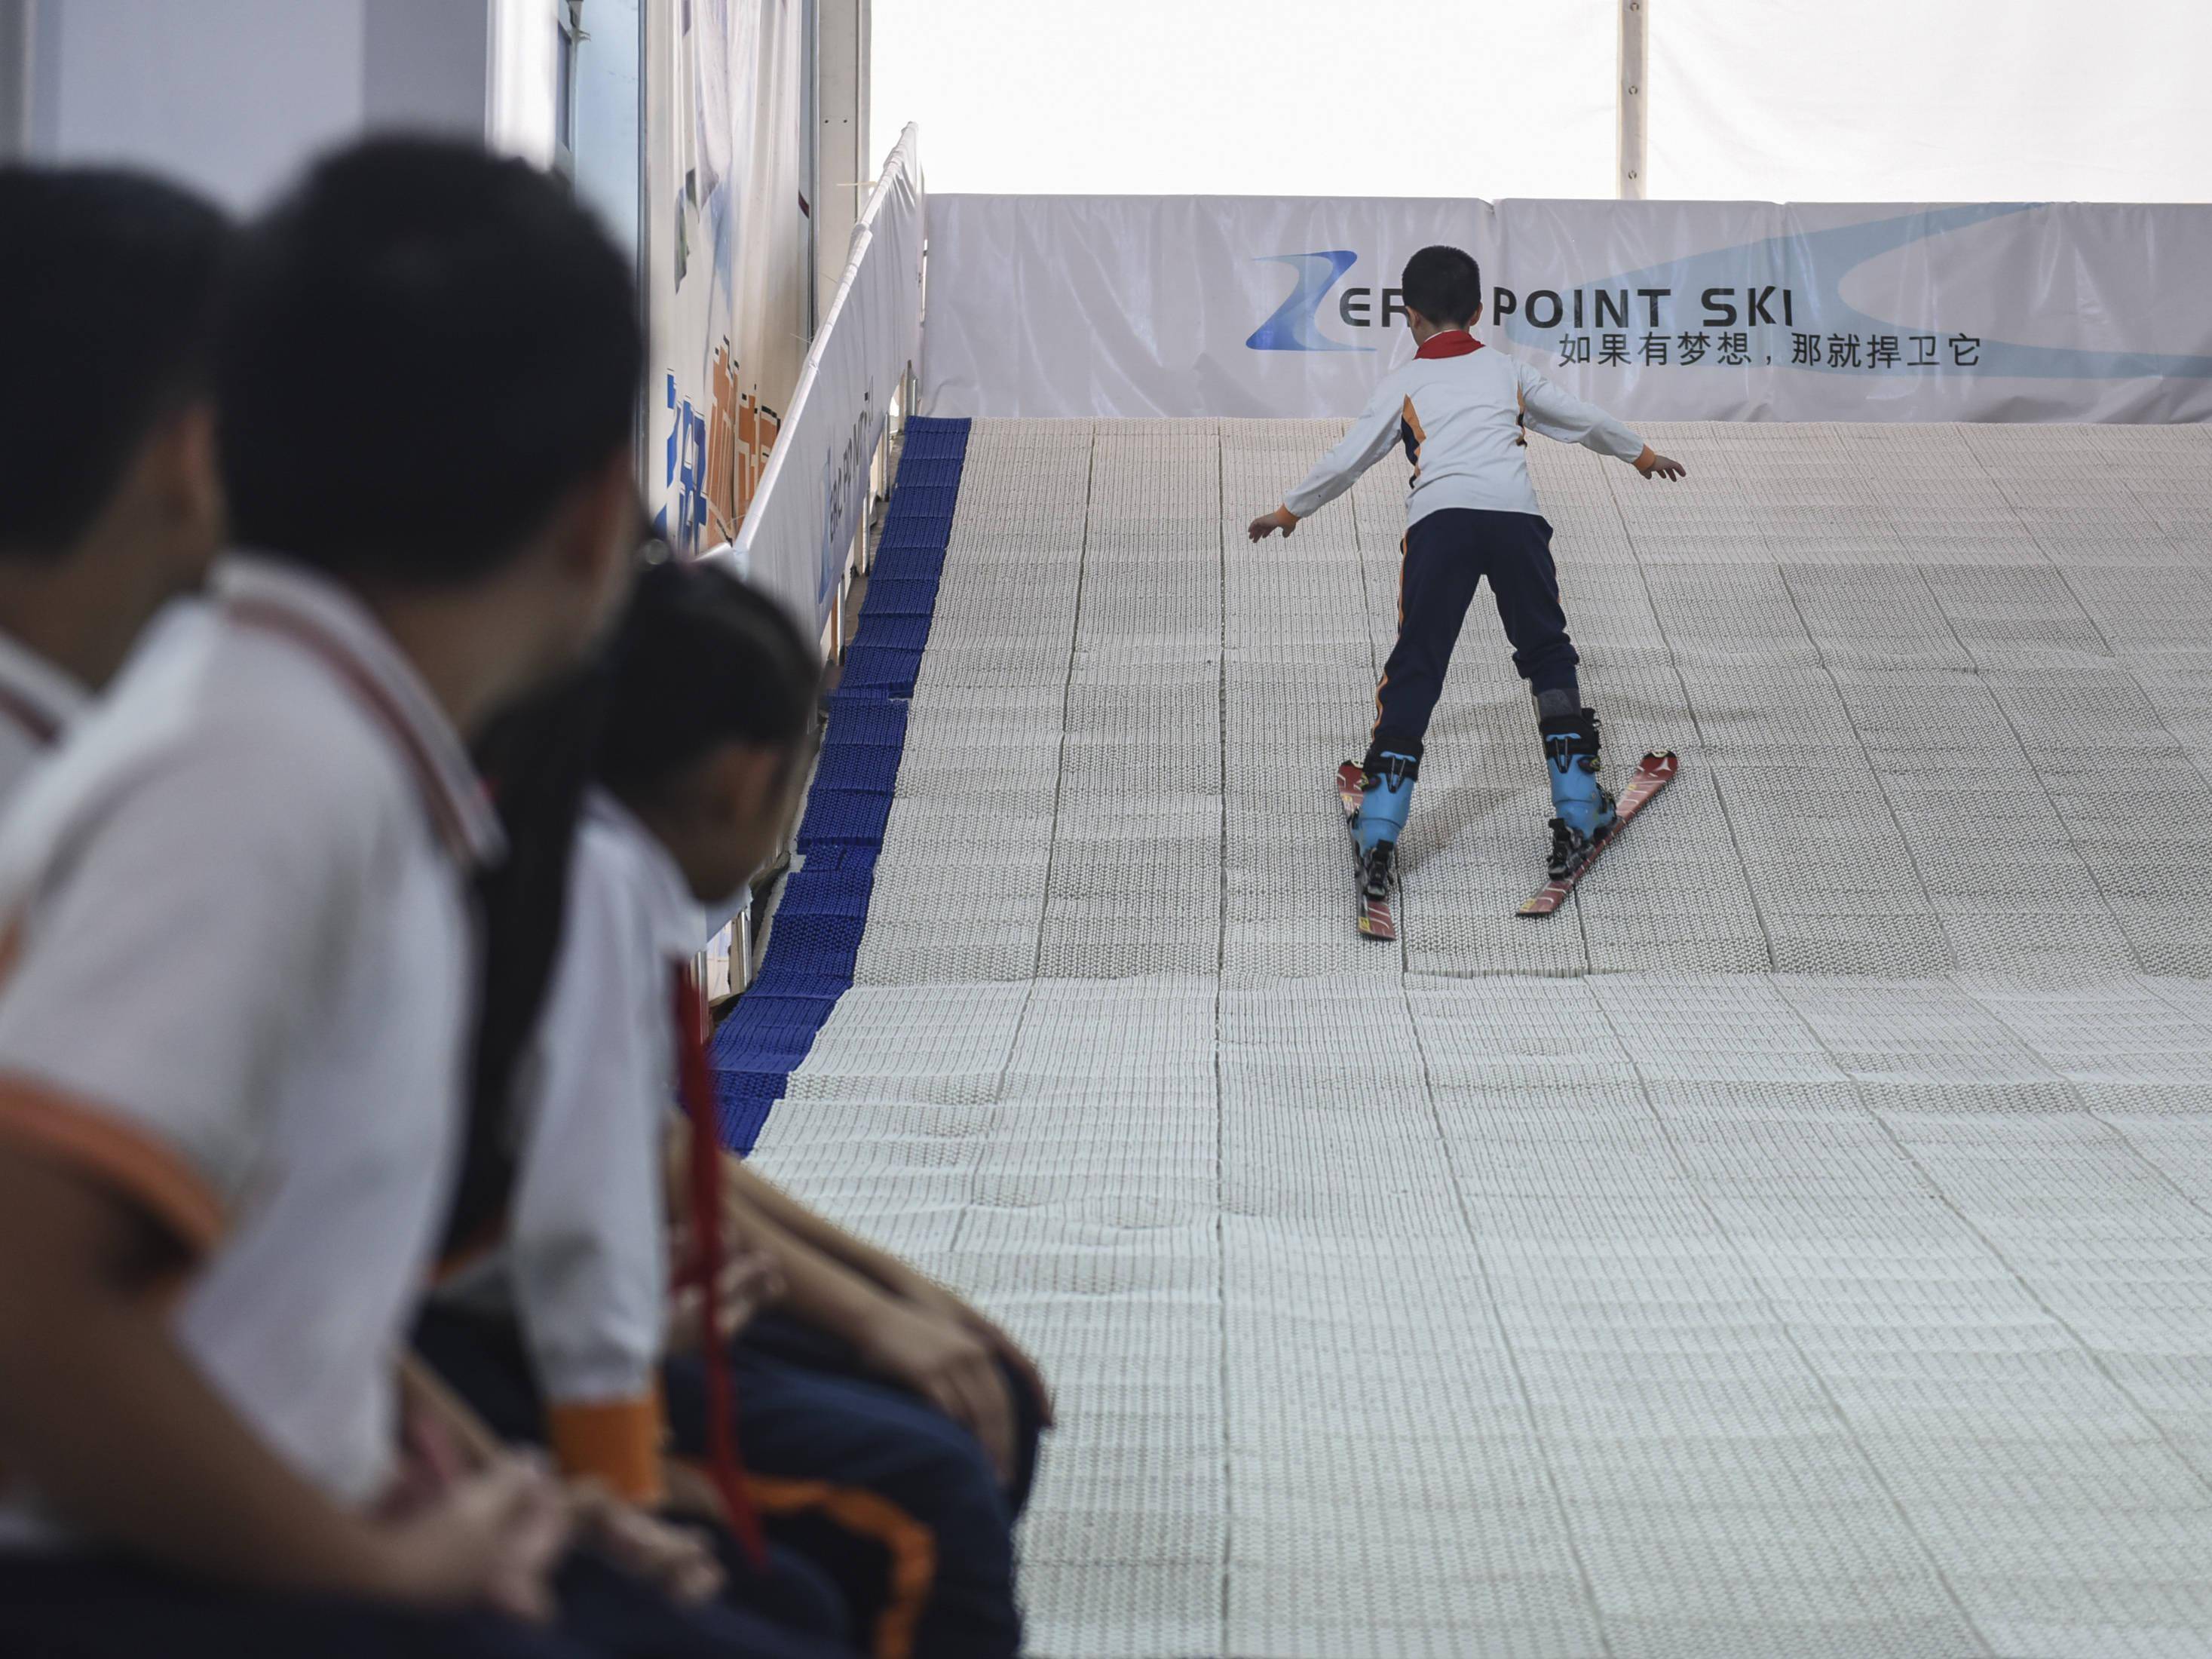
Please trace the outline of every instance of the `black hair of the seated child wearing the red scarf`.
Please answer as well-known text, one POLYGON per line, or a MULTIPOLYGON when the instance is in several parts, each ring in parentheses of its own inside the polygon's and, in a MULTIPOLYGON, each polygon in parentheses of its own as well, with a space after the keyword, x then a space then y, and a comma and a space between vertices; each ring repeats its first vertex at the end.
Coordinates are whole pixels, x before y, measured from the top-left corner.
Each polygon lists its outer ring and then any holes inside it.
POLYGON ((650 796, 723 743, 794 750, 814 732, 821 657, 792 615, 728 571, 657 564, 611 653, 599 779, 650 796))

